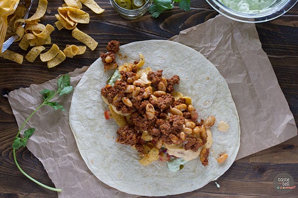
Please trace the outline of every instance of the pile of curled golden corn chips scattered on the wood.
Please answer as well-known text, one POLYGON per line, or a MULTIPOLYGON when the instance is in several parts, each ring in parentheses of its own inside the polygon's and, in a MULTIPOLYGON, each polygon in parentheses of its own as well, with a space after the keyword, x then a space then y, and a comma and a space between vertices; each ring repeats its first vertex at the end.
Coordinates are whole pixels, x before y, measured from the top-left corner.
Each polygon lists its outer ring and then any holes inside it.
MULTIPOLYGON (((48 68, 52 68, 63 62, 66 57, 73 58, 75 55, 83 54, 86 46, 92 51, 96 49, 98 43, 89 35, 77 29, 77 24, 89 23, 90 16, 83 11, 82 4, 90 8, 94 13, 100 14, 104 11, 94 0, 64 0, 62 7, 58 7, 58 14, 55 14, 57 22, 55 26, 60 31, 63 28, 72 30, 72 36, 83 43, 85 46, 67 45, 64 50, 59 49, 56 44, 53 44, 51 49, 41 53, 46 48, 44 45, 51 45, 51 33, 55 30, 51 24, 41 24, 40 19, 45 15, 48 1, 39 0, 35 13, 28 19, 23 19, 26 7, 22 4, 16 8, 13 16, 9 18, 9 28, 7 35, 17 34, 19 38, 19 47, 27 50, 32 47, 25 56, 29 62, 40 56, 42 62, 47 62, 48 68), (25 26, 23 24, 26 24, 25 26)), ((0 53, 0 57, 22 64, 23 55, 6 49, 0 53)))

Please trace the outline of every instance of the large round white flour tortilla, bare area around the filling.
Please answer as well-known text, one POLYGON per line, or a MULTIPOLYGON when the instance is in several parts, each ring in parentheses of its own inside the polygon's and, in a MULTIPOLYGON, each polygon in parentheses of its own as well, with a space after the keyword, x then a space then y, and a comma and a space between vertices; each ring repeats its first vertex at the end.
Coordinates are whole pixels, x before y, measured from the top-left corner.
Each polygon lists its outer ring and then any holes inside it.
POLYGON ((177 172, 167 169, 165 162, 155 161, 148 166, 139 163, 138 152, 130 146, 116 143, 118 125, 106 120, 107 105, 100 90, 111 73, 103 71, 97 59, 85 72, 76 89, 70 108, 70 126, 80 154, 91 172, 105 184, 122 192, 142 196, 165 196, 191 192, 216 180, 233 163, 239 149, 240 128, 235 104, 228 86, 216 67, 202 54, 176 42, 150 40, 120 47, 116 60, 119 65, 139 59, 144 54, 145 65, 153 71, 163 69, 163 76, 180 76, 175 87, 189 96, 199 118, 213 115, 213 145, 209 165, 203 166, 196 158, 177 172), (220 121, 228 123, 229 130, 217 130, 220 121), (223 164, 217 162, 220 154, 227 153, 223 164))

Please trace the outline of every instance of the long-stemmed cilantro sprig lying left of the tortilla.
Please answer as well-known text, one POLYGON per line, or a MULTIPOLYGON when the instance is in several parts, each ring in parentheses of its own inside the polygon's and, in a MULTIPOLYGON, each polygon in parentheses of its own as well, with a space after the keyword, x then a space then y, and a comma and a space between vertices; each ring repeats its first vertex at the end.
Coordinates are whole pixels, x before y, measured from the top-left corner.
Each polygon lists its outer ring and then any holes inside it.
POLYGON ((24 126, 26 125, 26 123, 28 122, 28 120, 36 113, 36 111, 38 109, 40 109, 42 106, 48 105, 53 107, 55 110, 62 110, 64 111, 63 105, 59 104, 57 101, 51 101, 56 95, 58 95, 59 97, 65 94, 69 94, 73 91, 73 86, 70 85, 71 84, 71 78, 68 74, 63 75, 59 78, 58 80, 58 89, 57 90, 49 90, 49 89, 44 89, 42 90, 40 93, 43 94, 43 99, 44 101, 27 117, 27 119, 24 121, 24 123, 21 125, 21 127, 19 128, 14 141, 12 143, 12 150, 13 150, 13 159, 14 162, 17 166, 17 168, 21 171, 21 173, 23 173, 28 179, 30 179, 31 181, 35 182, 36 184, 52 190, 52 191, 57 191, 57 192, 61 192, 62 189, 56 189, 56 188, 52 188, 49 187, 47 185, 44 185, 42 183, 40 183, 39 181, 35 180, 34 178, 32 178, 31 176, 29 176, 27 173, 25 173, 21 167, 19 166, 17 160, 16 160, 16 150, 21 148, 21 147, 26 147, 27 145, 27 141, 29 140, 29 138, 33 135, 35 128, 29 128, 26 129, 24 131, 24 135, 23 137, 20 137, 20 132, 23 130, 24 126))

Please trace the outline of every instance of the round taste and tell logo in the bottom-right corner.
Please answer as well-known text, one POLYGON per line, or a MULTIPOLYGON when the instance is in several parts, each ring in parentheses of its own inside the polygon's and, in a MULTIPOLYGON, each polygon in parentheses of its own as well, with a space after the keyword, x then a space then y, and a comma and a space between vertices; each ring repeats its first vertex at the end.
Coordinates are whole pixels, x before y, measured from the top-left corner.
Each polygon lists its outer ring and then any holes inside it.
POLYGON ((274 187, 280 193, 288 193, 296 188, 293 177, 288 173, 279 173, 274 178, 274 187))

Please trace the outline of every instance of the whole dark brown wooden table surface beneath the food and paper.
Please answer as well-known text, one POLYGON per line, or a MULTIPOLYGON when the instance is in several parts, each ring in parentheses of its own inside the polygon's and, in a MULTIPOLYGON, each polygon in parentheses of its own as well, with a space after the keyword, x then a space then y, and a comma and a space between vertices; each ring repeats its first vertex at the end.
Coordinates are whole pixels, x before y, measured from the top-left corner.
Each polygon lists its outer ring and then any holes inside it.
MULTIPOLYGON (((79 28, 91 35, 98 43, 97 49, 67 58, 59 66, 48 69, 40 60, 30 63, 24 59, 17 64, 0 58, 0 198, 57 198, 56 192, 45 190, 28 180, 13 162, 11 144, 18 127, 8 100, 4 95, 10 91, 30 84, 41 84, 60 74, 90 65, 105 51, 110 40, 121 44, 150 39, 169 39, 179 31, 205 22, 218 13, 205 0, 192 0, 191 11, 184 12, 177 7, 162 13, 157 19, 147 13, 138 20, 126 20, 111 7, 109 0, 97 0, 105 9, 96 15, 90 14, 90 23, 79 28)), ((54 24, 57 8, 63 0, 50 0, 42 23, 54 24)), ((37 1, 33 4, 35 11, 37 1)), ((298 123, 298 4, 284 16, 270 22, 256 24, 262 48, 268 54, 278 82, 298 123)), ((62 30, 52 33, 52 43, 63 48, 66 44, 80 43, 71 36, 71 31, 62 30)), ((13 44, 10 50, 23 55, 26 51, 13 44)), ((38 58, 39 59, 39 58, 38 58)), ((26 148, 17 151, 20 166, 32 177, 54 186, 39 160, 26 148)), ((282 172, 290 174, 298 186, 298 136, 272 148, 252 154, 234 162, 230 169, 218 179, 221 188, 214 182, 194 192, 169 196, 171 198, 273 198, 298 197, 298 188, 287 194, 275 190, 274 178, 282 172)))

